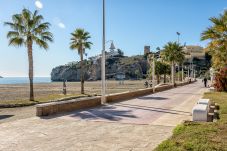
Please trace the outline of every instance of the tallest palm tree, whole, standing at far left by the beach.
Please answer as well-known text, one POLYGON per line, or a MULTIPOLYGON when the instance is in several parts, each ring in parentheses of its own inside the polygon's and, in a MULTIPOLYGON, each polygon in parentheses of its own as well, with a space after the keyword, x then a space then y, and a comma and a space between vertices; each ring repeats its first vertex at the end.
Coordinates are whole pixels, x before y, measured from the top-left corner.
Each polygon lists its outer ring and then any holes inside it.
POLYGON ((5 22, 12 30, 8 32, 9 45, 25 46, 29 62, 30 101, 34 101, 33 93, 33 44, 40 48, 48 49, 48 43, 53 41, 53 35, 49 32, 50 23, 43 22, 43 16, 38 11, 32 13, 23 9, 20 14, 12 16, 12 22, 5 22))

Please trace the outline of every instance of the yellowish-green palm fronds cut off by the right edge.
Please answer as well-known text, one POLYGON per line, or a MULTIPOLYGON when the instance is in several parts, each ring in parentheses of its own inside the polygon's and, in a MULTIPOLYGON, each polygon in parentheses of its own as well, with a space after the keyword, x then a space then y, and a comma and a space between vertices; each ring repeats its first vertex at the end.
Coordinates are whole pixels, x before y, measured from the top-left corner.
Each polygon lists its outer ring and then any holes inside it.
POLYGON ((209 20, 213 25, 201 34, 201 40, 210 40, 207 50, 212 55, 213 67, 221 69, 227 66, 227 10, 209 20))

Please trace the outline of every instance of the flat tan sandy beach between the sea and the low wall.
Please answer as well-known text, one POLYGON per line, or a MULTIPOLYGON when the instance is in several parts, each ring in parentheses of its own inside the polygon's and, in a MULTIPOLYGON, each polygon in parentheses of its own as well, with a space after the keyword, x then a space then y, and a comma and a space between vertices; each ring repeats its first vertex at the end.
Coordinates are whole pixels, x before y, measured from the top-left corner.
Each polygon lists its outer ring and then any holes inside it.
MULTIPOLYGON (((119 81, 107 81, 107 93, 118 93, 144 88, 144 80, 127 80, 124 85, 119 81)), ((80 94, 80 82, 67 82, 68 94, 80 94)), ((34 84, 35 97, 45 98, 50 95, 62 94, 62 82, 34 84)), ((85 82, 85 93, 89 95, 100 95, 101 81, 85 82)), ((27 100, 29 96, 29 84, 1 84, 0 101, 27 100)))

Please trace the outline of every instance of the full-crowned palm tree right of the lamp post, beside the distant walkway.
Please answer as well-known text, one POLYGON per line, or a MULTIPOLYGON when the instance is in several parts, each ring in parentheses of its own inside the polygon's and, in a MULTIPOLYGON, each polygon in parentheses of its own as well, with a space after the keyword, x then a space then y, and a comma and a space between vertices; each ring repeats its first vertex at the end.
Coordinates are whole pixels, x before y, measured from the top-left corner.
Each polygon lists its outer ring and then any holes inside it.
POLYGON ((175 65, 184 58, 183 46, 177 42, 168 42, 161 55, 165 61, 171 63, 172 83, 175 84, 175 65))

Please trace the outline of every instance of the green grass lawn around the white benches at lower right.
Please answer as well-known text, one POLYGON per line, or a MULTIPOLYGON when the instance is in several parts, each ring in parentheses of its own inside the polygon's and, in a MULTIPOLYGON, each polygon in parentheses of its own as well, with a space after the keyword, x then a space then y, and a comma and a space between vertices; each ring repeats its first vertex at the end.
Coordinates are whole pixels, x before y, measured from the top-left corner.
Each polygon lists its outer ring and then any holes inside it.
POLYGON ((220 105, 220 120, 213 123, 187 122, 178 125, 173 135, 155 151, 227 151, 227 93, 205 93, 220 105))

